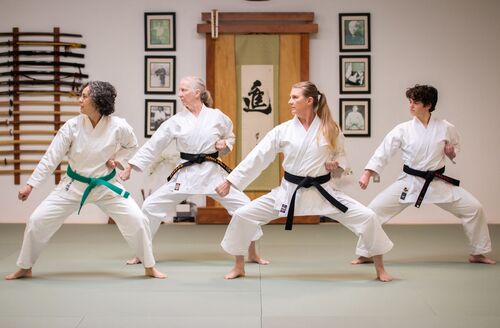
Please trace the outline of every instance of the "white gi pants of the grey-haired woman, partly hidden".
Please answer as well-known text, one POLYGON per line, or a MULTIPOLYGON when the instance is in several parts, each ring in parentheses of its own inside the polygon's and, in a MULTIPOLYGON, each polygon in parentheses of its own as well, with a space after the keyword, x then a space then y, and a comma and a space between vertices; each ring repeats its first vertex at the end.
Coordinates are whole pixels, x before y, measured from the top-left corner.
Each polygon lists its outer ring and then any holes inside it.
MULTIPOLYGON (((166 213, 175 212, 177 204, 192 195, 174 192, 170 189, 172 189, 172 186, 168 184, 161 186, 148 196, 142 204, 142 211, 146 214, 150 222, 152 238, 156 235, 161 221, 165 219, 166 213)), ((221 203, 229 212, 229 215, 232 215, 238 208, 250 203, 248 196, 235 188, 231 188, 229 194, 225 197, 220 197, 215 193, 207 196, 221 203)), ((253 240, 257 240, 262 235, 262 230, 260 228, 259 230, 260 231, 257 231, 256 237, 253 240)))

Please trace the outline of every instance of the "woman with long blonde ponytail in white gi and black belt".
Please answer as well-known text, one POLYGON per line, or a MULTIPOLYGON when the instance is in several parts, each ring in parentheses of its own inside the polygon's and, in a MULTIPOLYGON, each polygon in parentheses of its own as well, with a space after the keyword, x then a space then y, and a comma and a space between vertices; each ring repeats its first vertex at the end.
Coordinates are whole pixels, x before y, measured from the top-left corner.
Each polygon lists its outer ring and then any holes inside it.
POLYGON ((245 189, 276 157, 283 153, 284 179, 270 193, 245 205, 233 215, 221 246, 234 255, 235 266, 225 276, 245 275, 243 255, 261 225, 287 216, 291 229, 293 215, 325 215, 359 237, 356 254, 373 256, 377 278, 390 281, 382 254, 393 244, 382 230, 375 213, 332 185, 331 174, 347 169, 343 135, 332 119, 326 97, 311 82, 292 87, 288 101, 294 118, 273 128, 229 174, 216 191, 224 196, 235 188, 245 189), (311 188, 313 187, 313 188, 311 188))

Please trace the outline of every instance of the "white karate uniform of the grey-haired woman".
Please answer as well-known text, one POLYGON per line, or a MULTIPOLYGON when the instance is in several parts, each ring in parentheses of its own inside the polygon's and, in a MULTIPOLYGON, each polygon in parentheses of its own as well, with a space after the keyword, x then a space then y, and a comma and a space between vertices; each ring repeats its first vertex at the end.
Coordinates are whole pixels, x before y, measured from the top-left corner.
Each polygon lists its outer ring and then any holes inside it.
MULTIPOLYGON (((235 141, 233 123, 219 109, 203 106, 198 116, 183 110, 165 121, 129 163, 144 171, 173 141, 179 152, 215 153, 215 143, 221 139, 226 139, 228 150, 232 150, 235 141)), ((219 154, 223 155, 221 152, 219 154)), ((183 162, 186 160, 179 159, 177 165, 183 162)), ((174 211, 177 204, 190 195, 210 196, 220 202, 229 214, 249 203, 248 196, 238 190, 232 190, 224 198, 217 195, 215 188, 225 180, 226 175, 222 167, 210 161, 178 171, 169 182, 148 196, 142 205, 151 224, 152 236, 158 231, 166 213, 174 211)))

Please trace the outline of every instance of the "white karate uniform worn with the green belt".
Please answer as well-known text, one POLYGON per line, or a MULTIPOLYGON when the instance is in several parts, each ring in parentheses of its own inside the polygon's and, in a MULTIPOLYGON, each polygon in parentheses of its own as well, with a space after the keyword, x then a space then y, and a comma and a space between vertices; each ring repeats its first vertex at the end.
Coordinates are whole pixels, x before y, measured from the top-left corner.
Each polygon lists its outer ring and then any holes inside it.
MULTIPOLYGON (((69 119, 59 129, 27 184, 37 188, 64 156, 76 173, 84 177, 102 177, 110 172, 106 166, 109 159, 123 166, 137 148, 134 132, 124 119, 103 116, 94 128, 88 116, 82 114, 69 119)), ((123 189, 116 177, 109 182, 123 189)), ((17 261, 19 267, 27 269, 35 264, 52 235, 70 214, 78 210, 87 186, 65 175, 35 209, 24 232, 17 261)), ((94 203, 115 220, 145 267, 155 265, 148 219, 131 197, 125 199, 105 186, 97 186, 90 192, 86 203, 94 203)))

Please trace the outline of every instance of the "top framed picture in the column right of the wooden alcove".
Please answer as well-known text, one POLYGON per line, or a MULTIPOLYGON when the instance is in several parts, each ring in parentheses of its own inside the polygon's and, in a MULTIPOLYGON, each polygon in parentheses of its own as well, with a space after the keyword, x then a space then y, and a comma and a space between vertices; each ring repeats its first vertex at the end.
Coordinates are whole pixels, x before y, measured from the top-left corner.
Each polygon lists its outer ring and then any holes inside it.
POLYGON ((370 51, 370 14, 339 14, 340 51, 370 51))

